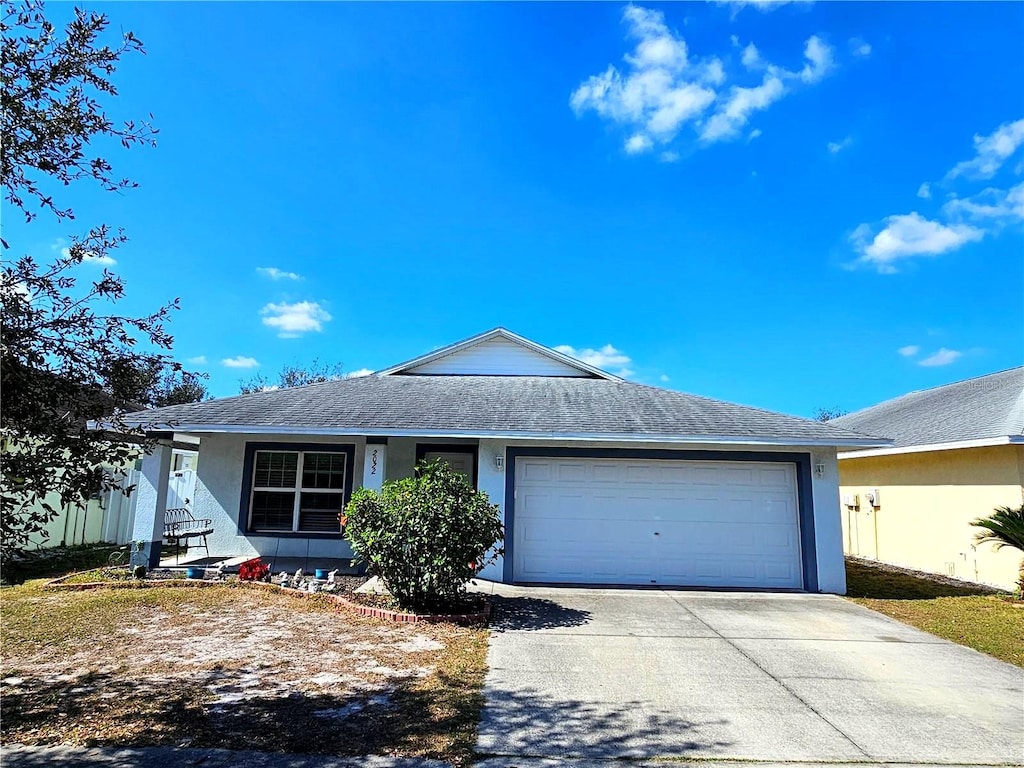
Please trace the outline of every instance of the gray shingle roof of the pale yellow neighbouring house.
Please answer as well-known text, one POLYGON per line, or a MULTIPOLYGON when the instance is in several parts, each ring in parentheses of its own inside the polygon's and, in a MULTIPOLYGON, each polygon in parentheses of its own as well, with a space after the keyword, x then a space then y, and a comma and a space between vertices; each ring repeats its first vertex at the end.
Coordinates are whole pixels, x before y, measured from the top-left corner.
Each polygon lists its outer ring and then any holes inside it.
POLYGON ((1024 434, 1024 367, 910 392, 828 422, 896 447, 1024 434))

